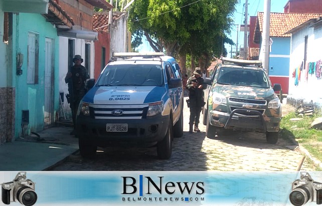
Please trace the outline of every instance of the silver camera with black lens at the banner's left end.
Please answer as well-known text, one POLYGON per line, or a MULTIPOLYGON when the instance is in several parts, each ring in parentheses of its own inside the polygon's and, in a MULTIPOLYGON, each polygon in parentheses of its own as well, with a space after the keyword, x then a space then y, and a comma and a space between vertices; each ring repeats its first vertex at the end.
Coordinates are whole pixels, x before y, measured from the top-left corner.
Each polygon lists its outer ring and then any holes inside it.
POLYGON ((31 206, 37 201, 35 192, 35 182, 26 178, 26 172, 20 171, 13 181, 1 184, 2 201, 5 204, 10 204, 12 201, 31 206))

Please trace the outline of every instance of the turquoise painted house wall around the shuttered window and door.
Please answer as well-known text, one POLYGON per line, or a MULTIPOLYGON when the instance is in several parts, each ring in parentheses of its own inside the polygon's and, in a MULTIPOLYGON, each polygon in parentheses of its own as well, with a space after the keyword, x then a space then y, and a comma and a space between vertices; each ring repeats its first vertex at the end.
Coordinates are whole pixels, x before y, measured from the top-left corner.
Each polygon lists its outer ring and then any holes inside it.
MULTIPOLYGON (((30 131, 44 129, 44 90, 45 90, 45 38, 53 39, 54 52, 54 114, 59 107, 59 39, 53 24, 46 22, 41 14, 15 14, 17 29, 16 52, 24 54, 23 74, 16 75, 16 137, 22 135, 22 110, 29 109, 30 131), (39 78, 37 84, 27 84, 28 32, 39 34, 39 78), (57 99, 57 100, 56 100, 57 99)), ((14 31, 15 32, 15 31, 14 31)), ((16 65, 14 65, 16 66, 16 65)), ((15 68, 14 68, 15 69, 15 68)))

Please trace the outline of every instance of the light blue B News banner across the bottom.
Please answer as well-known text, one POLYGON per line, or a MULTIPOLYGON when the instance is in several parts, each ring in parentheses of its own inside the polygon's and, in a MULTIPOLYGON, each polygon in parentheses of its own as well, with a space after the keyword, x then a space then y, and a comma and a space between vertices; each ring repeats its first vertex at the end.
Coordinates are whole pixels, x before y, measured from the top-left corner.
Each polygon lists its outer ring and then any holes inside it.
POLYGON ((22 205, 25 197, 32 201, 34 192, 37 194, 34 205, 322 203, 322 192, 319 193, 322 173, 318 171, 0 171, 0 181, 3 191, 0 205, 4 200, 22 205), (25 196, 22 187, 27 188, 25 196))

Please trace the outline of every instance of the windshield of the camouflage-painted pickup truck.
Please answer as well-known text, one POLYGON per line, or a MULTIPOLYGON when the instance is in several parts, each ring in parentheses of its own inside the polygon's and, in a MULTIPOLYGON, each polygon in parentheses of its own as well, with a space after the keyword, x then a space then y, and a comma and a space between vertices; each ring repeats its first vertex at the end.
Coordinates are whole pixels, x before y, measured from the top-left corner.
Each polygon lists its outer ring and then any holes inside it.
POLYGON ((262 70, 222 67, 217 83, 269 88, 269 80, 262 70))

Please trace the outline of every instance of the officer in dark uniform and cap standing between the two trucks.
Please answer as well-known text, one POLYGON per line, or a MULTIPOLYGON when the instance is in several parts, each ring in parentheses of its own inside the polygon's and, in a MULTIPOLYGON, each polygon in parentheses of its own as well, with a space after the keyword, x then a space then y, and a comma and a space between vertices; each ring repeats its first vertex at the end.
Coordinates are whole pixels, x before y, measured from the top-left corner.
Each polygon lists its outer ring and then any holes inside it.
POLYGON ((193 126, 194 131, 200 132, 198 128, 200 112, 204 106, 204 89, 207 85, 204 84, 204 79, 201 77, 202 72, 200 67, 196 67, 194 75, 187 81, 187 88, 189 89, 189 104, 190 104, 190 119, 189 119, 189 132, 192 133, 193 126))

